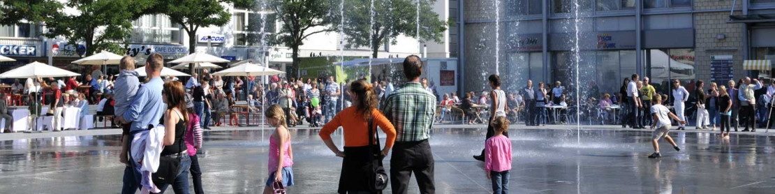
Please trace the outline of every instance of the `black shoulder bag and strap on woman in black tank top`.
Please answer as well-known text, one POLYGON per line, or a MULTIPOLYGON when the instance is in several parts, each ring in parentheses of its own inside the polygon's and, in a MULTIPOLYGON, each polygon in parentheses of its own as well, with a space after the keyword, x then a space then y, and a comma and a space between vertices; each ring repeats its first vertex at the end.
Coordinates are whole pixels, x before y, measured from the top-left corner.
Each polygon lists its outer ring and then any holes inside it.
MULTIPOLYGON (((181 118, 181 120, 183 120, 183 118, 181 118)), ((153 126, 148 126, 148 127, 153 127, 153 126)), ((165 127, 169 127, 169 126, 165 126, 165 127)), ((176 140, 178 142, 177 144, 178 147, 180 147, 178 149, 179 152, 177 152, 177 157, 172 158, 169 156, 161 156, 159 158, 159 168, 155 173, 151 175, 151 180, 153 181, 153 184, 172 185, 175 182, 175 178, 177 177, 177 171, 179 171, 181 168, 181 152, 183 152, 183 144, 185 144, 184 138, 186 137, 186 131, 188 130, 188 127, 184 127, 184 128, 186 129, 183 129, 183 135, 181 136, 180 141, 176 140)))

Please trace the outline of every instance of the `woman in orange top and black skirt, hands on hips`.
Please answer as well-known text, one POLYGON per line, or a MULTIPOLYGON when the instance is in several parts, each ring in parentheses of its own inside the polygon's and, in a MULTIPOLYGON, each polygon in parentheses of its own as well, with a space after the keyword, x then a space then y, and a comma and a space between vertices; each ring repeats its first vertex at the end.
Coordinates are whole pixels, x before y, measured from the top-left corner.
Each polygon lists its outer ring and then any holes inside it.
MULTIPOLYGON (((387 134, 385 147, 381 154, 384 158, 387 152, 393 147, 395 141, 395 128, 382 113, 377 110, 377 95, 374 93, 374 86, 370 85, 366 79, 359 79, 350 84, 350 96, 353 98, 353 105, 343 109, 334 116, 329 123, 325 123, 320 130, 320 138, 325 145, 338 157, 342 157, 342 174, 339 177, 339 193, 360 193, 369 192, 367 180, 368 175, 372 174, 370 169, 364 169, 369 161, 369 154, 372 151, 380 151, 376 144, 369 146, 368 134, 369 120, 373 120, 374 129, 380 126, 382 131, 387 134), (331 140, 331 133, 339 126, 344 131, 344 152, 339 151, 331 140), (372 149, 372 150, 369 150, 372 149)), ((377 140, 374 138, 374 140, 377 140)))

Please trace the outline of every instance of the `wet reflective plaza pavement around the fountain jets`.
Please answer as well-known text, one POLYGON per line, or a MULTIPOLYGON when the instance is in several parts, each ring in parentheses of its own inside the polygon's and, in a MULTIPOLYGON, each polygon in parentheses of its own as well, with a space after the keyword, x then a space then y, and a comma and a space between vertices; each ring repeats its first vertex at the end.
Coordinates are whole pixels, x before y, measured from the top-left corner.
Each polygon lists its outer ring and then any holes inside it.
MULTIPOLYGON (((580 137, 570 126, 512 128, 511 192, 771 193, 775 185, 775 137, 733 133, 722 140, 716 133, 673 130, 683 150, 660 141, 663 158, 649 159, 649 130, 584 127, 596 128, 581 130, 580 137)), ((205 132, 206 155, 199 159, 205 191, 261 192, 271 131, 219 129, 205 132)), ((289 193, 336 192, 341 159, 318 131, 291 130, 296 185, 289 193)), ((483 127, 433 131, 437 193, 491 192, 484 163, 471 158, 481 150, 484 132, 483 127)), ((339 136, 333 139, 341 145, 339 136)), ((0 193, 119 193, 124 168, 119 152, 115 134, 2 140, 0 193)), ((388 156, 386 168, 389 164, 388 156)), ((414 180, 410 186, 416 193, 414 180)))

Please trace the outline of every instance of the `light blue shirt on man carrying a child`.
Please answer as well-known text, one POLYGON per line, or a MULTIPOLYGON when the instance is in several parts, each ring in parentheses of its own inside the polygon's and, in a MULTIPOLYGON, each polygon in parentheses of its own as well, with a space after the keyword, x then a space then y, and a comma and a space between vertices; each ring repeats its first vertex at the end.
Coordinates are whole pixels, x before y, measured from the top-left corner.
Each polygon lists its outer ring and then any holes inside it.
POLYGON ((124 120, 133 122, 129 131, 147 130, 149 125, 157 126, 164 116, 167 105, 161 99, 164 80, 152 78, 137 90, 135 99, 124 112, 124 120))

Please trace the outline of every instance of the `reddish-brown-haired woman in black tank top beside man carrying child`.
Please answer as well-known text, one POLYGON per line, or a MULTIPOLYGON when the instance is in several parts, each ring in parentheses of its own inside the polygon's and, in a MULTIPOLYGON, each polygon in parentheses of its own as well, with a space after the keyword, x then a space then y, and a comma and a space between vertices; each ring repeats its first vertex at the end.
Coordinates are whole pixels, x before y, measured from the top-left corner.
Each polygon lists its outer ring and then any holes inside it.
MULTIPOLYGON (((161 92, 162 100, 167 103, 164 111, 164 149, 161 157, 178 158, 178 167, 172 189, 175 193, 188 193, 188 169, 191 168, 191 158, 184 141, 184 133, 188 130, 188 109, 186 108, 185 92, 179 81, 167 81, 161 92)), ((167 190, 168 184, 157 185, 161 192, 167 190)))

